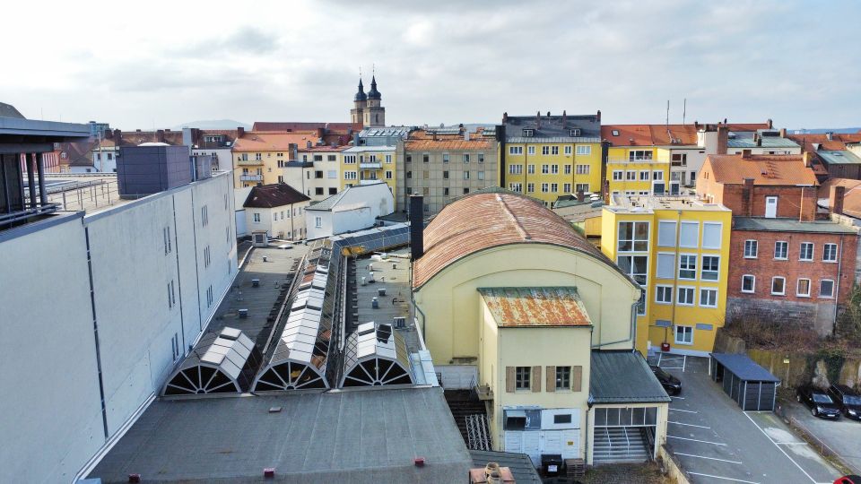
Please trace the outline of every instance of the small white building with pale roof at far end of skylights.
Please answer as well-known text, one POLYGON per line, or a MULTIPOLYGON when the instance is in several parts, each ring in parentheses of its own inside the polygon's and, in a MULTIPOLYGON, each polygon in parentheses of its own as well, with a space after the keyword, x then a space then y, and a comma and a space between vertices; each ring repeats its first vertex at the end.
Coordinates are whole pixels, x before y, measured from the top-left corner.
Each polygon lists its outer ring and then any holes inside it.
POLYGON ((348 186, 326 200, 305 209, 308 238, 325 238, 374 226, 377 217, 395 212, 395 196, 380 180, 370 185, 348 186))

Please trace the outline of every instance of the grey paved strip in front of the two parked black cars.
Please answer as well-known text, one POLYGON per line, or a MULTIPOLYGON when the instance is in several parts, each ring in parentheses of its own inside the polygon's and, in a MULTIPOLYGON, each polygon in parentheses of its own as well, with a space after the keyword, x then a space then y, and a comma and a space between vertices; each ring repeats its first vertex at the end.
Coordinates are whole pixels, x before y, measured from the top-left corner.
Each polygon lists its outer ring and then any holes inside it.
POLYGON ((810 410, 796 401, 783 402, 787 419, 794 419, 793 425, 818 439, 814 445, 826 445, 831 454, 838 454, 852 471, 861 473, 861 422, 848 419, 846 415, 838 421, 819 419, 810 410))

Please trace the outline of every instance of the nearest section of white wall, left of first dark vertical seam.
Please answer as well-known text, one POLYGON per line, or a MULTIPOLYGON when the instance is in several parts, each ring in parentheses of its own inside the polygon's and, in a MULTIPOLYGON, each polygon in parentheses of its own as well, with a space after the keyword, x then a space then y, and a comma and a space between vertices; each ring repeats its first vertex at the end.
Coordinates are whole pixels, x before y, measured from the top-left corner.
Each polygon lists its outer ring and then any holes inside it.
POLYGON ((81 219, 0 261, 0 482, 68 482, 105 441, 81 219))

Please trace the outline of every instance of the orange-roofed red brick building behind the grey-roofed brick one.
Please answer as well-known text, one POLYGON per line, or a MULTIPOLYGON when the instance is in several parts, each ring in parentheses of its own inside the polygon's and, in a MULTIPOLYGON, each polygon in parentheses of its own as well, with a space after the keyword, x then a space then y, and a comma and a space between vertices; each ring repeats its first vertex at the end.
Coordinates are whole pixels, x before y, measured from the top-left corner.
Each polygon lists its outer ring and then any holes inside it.
POLYGON ((816 217, 816 176, 810 159, 796 155, 709 155, 697 194, 736 217, 816 217))

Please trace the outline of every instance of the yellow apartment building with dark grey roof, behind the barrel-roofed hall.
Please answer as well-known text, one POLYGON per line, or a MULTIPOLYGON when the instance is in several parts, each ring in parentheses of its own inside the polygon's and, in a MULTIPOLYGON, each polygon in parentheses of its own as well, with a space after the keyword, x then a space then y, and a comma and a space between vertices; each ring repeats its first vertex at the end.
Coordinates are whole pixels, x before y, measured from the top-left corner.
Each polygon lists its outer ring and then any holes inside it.
POLYGON ((500 185, 552 203, 561 195, 601 192, 604 154, 596 115, 502 117, 500 185))

